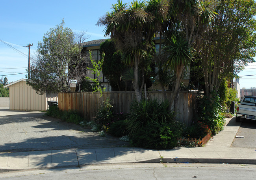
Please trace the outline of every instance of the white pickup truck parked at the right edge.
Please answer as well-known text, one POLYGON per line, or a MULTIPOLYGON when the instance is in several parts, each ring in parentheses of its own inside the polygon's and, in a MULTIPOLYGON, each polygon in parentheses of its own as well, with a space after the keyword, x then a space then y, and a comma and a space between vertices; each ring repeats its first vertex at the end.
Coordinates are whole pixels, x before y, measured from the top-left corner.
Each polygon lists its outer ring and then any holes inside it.
POLYGON ((256 120, 256 96, 245 96, 237 107, 236 122, 241 119, 256 120))

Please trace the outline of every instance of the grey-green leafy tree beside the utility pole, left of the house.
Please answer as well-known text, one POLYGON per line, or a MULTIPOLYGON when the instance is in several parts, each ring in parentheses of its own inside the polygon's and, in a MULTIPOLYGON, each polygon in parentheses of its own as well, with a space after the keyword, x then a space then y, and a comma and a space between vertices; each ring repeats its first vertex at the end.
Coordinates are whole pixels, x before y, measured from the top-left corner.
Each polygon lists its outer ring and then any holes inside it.
POLYGON ((82 47, 76 41, 85 40, 84 33, 78 38, 71 29, 61 24, 45 33, 38 42, 37 56, 31 65, 31 77, 27 80, 39 94, 70 91, 73 80, 85 76, 86 62, 82 47))

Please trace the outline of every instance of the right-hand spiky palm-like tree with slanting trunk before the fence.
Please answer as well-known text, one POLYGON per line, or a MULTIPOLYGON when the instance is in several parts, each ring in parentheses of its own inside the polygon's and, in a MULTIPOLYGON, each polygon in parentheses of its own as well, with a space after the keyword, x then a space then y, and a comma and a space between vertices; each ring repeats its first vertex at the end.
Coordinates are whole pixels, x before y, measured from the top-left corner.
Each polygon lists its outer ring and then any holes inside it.
POLYGON ((213 20, 214 12, 211 11, 209 2, 200 0, 170 0, 169 29, 165 32, 167 41, 167 52, 169 59, 164 67, 174 69, 176 82, 173 88, 171 104, 174 103, 174 111, 178 104, 178 93, 180 82, 184 71, 193 57, 193 44, 199 43, 200 34, 213 20), (169 45, 168 45, 169 43, 169 45))

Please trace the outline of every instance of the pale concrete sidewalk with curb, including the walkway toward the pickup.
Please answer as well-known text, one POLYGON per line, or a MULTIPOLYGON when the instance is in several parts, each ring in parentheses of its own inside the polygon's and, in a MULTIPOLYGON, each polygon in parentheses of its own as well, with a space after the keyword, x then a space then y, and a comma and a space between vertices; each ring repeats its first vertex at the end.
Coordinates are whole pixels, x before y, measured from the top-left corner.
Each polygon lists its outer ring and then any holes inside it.
POLYGON ((226 119, 226 127, 204 147, 170 150, 139 148, 65 149, 0 154, 0 169, 34 169, 102 163, 154 162, 256 164, 256 149, 230 147, 240 123, 226 119))

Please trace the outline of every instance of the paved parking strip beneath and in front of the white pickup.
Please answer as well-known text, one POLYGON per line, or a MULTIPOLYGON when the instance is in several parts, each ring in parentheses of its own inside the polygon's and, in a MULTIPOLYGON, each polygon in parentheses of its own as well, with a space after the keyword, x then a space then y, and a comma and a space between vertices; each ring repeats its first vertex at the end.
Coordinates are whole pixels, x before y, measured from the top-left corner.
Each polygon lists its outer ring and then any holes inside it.
POLYGON ((243 120, 236 136, 244 138, 234 138, 231 147, 256 148, 256 120, 243 120))

